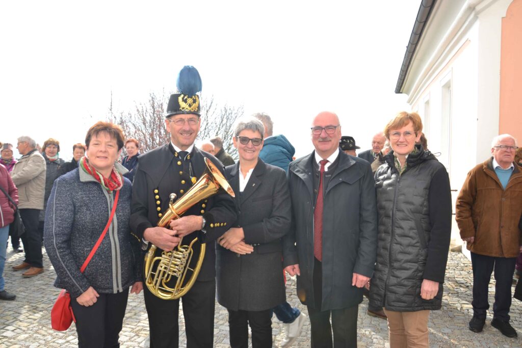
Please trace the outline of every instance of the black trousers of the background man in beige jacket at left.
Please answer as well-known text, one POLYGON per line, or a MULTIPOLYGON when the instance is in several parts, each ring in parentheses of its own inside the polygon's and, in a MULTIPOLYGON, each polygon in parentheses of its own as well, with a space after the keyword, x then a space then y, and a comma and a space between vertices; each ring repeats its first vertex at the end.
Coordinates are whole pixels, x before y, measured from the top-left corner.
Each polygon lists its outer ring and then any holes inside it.
POLYGON ((40 209, 20 209, 20 217, 26 233, 22 234, 23 251, 26 253, 24 262, 32 267, 43 268, 42 239, 38 233, 38 218, 40 209))

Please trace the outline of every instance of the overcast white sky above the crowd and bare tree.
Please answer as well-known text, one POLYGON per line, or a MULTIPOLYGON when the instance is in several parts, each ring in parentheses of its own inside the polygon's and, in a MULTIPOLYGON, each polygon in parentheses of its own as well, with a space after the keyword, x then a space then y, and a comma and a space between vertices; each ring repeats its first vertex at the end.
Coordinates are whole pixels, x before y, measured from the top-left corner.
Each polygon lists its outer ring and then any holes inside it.
POLYGON ((174 92, 194 65, 203 95, 264 111, 300 157, 310 123, 336 112, 362 149, 396 112, 420 0, 24 1, 0 4, 0 141, 60 140, 61 157, 116 110, 174 92))

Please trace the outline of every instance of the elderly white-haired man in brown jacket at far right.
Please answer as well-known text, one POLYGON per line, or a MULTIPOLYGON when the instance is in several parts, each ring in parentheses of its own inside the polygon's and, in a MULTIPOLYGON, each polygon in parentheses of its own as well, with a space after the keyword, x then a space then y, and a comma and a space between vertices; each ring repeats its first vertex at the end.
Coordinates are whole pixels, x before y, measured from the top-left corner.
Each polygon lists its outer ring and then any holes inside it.
POLYGON ((516 139, 508 134, 493 138, 493 157, 474 167, 457 198, 456 221, 460 237, 471 251, 473 318, 469 329, 484 327, 488 284, 495 271, 495 303, 491 325, 507 337, 516 337, 509 324, 511 283, 520 248, 522 171, 513 161, 516 139))

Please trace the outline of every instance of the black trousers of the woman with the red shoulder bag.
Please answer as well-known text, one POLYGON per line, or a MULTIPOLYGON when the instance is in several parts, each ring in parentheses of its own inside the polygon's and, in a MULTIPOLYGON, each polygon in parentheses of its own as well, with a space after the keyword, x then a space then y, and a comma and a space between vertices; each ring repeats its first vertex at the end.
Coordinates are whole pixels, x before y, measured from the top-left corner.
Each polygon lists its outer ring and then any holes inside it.
POLYGON ((127 308, 129 290, 117 294, 100 294, 98 301, 85 307, 70 300, 76 318, 78 347, 109 348, 119 347, 120 331, 127 308))

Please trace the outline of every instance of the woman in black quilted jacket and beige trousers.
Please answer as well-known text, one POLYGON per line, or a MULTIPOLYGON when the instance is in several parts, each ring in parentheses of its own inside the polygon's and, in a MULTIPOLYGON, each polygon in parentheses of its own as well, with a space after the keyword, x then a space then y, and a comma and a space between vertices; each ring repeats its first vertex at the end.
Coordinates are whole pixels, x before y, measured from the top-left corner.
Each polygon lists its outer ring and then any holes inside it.
POLYGON ((390 348, 428 347, 430 310, 441 308, 452 203, 444 165, 416 145, 417 113, 399 113, 384 130, 392 147, 375 173, 377 262, 370 303, 388 317, 390 348))

